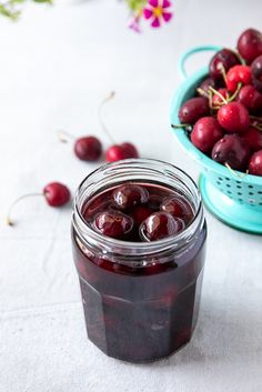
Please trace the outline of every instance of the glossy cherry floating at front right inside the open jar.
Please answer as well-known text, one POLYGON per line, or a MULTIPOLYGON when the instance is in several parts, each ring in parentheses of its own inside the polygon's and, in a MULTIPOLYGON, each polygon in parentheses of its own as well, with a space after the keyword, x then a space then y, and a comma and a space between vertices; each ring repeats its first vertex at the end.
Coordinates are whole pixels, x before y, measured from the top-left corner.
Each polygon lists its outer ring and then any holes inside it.
POLYGON ((184 223, 167 212, 154 212, 140 225, 140 235, 144 241, 157 241, 174 235, 183 230, 184 223))

